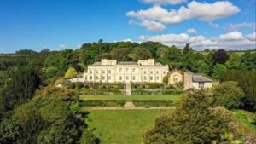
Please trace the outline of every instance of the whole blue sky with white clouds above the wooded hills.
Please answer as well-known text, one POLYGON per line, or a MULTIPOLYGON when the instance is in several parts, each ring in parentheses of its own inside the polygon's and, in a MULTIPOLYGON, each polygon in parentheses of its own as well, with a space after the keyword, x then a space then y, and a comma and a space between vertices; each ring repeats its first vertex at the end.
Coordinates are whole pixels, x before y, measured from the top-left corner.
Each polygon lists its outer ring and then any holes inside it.
POLYGON ((0 53, 154 41, 255 49, 256 0, 0 0, 0 53))

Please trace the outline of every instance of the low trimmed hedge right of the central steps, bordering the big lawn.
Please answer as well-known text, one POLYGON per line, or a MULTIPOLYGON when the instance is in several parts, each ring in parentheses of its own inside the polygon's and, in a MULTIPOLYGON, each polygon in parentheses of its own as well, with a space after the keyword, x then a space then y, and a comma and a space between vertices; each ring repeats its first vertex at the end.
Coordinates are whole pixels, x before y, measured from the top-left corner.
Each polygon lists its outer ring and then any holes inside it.
POLYGON ((173 100, 133 100, 136 107, 173 107, 173 100))

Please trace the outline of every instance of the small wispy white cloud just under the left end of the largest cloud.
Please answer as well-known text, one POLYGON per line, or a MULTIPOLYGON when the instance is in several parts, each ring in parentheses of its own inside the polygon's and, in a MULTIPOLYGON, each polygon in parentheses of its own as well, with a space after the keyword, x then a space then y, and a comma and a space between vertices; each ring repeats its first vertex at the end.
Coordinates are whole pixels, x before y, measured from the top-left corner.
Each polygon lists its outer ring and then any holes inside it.
POLYGON ((161 24, 160 22, 156 22, 154 20, 142 20, 140 22, 137 22, 135 20, 130 20, 129 23, 132 25, 145 26, 147 27, 147 30, 149 32, 158 32, 166 28, 165 25, 161 24))

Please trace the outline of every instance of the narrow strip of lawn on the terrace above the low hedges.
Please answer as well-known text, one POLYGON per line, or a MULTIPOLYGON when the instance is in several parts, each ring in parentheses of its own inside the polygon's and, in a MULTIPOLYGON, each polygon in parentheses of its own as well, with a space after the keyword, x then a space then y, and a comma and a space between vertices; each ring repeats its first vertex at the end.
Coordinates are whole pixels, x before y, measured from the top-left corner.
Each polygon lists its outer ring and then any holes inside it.
POLYGON ((181 95, 80 95, 80 100, 177 100, 181 95))

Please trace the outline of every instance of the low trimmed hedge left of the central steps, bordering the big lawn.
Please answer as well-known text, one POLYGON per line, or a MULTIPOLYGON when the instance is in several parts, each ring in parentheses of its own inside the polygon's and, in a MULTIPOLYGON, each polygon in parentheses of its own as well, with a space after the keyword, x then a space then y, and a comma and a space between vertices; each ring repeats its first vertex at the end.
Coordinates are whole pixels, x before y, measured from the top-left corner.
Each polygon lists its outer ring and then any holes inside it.
POLYGON ((86 100, 81 101, 82 107, 124 107, 125 100, 86 100))

